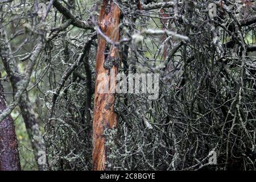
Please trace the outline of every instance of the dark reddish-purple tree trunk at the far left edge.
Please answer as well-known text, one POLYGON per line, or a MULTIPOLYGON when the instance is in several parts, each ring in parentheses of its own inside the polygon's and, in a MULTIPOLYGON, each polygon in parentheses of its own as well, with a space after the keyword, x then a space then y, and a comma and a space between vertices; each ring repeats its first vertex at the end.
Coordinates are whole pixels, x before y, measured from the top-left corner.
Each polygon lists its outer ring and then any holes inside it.
MULTIPOLYGON (((0 78, 1 78, 0 73, 0 78)), ((0 111, 6 109, 3 86, 0 80, 0 111)), ((19 171, 18 140, 11 115, 0 122, 0 171, 19 171)))

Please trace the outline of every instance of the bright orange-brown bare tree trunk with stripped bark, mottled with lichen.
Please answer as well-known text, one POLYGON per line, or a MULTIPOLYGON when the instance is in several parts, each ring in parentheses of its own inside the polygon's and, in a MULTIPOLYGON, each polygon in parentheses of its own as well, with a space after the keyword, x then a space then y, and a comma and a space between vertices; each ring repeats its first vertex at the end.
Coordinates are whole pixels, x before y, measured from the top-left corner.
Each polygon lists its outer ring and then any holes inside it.
MULTIPOLYGON (((119 7, 113 1, 103 1, 98 24, 101 31, 112 42, 119 40, 120 13, 119 7)), ((114 138, 117 133, 117 115, 114 112, 115 96, 114 93, 101 93, 101 91, 110 83, 110 69, 114 73, 111 79, 117 75, 118 65, 116 63, 118 59, 118 48, 108 45, 106 40, 98 35, 93 113, 94 170, 108 170, 113 167, 110 162, 112 160, 110 154, 113 153, 114 138), (110 48, 108 49, 108 47, 110 48), (106 64, 108 64, 108 67, 106 67, 106 64), (101 80, 102 76, 104 76, 104 81, 101 80)))

